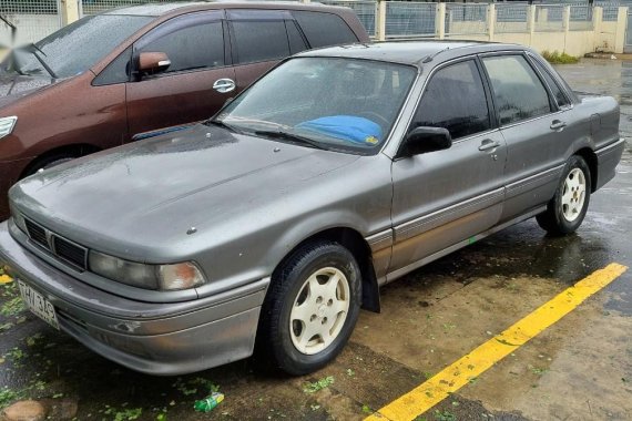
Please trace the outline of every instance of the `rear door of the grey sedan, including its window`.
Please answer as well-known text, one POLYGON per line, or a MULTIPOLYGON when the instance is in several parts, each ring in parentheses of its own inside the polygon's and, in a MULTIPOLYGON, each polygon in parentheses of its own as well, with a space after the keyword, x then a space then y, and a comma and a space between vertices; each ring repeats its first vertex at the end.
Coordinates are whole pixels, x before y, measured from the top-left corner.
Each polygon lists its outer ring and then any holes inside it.
POLYGON ((561 91, 555 99, 543 75, 520 52, 486 55, 481 61, 507 143, 504 222, 537 210, 553 196, 571 146, 570 101, 561 91))

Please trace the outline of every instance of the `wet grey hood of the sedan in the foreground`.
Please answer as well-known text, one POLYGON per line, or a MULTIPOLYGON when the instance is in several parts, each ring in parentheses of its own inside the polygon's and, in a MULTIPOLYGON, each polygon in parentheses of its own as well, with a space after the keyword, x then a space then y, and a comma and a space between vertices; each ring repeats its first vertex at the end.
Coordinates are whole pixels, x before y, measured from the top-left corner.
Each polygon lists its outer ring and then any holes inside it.
POLYGON ((357 158, 198 124, 35 174, 10 197, 49 229, 108 251, 226 226, 357 158))

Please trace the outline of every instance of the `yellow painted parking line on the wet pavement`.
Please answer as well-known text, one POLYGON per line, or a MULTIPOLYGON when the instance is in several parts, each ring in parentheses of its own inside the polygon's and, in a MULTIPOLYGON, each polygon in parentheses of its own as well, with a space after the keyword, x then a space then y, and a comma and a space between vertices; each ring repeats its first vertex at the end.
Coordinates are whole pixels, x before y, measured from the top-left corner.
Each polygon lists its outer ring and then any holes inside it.
POLYGON ((610 264, 565 289, 547 304, 493 337, 480 347, 446 367, 428 381, 388 403, 365 419, 412 420, 466 386, 531 338, 571 312, 587 298, 598 292, 623 274, 628 267, 610 264))

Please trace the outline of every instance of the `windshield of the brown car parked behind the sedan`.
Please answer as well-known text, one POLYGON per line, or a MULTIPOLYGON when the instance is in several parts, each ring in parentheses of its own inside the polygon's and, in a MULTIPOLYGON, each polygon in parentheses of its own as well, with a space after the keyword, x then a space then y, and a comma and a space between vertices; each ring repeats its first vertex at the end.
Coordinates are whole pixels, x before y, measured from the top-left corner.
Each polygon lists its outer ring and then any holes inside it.
POLYGON ((26 75, 69 78, 85 72, 154 18, 99 14, 85 17, 27 47, 2 68, 26 75))

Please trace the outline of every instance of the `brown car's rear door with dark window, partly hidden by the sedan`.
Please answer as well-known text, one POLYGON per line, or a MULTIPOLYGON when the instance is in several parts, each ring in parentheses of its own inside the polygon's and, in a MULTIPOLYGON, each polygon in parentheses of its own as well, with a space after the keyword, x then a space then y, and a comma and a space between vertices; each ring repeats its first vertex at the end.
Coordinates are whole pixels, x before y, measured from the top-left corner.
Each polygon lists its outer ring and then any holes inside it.
POLYGON ((235 64, 236 92, 241 92, 282 59, 307 49, 287 11, 226 10, 235 64))

